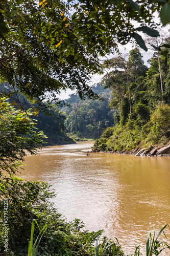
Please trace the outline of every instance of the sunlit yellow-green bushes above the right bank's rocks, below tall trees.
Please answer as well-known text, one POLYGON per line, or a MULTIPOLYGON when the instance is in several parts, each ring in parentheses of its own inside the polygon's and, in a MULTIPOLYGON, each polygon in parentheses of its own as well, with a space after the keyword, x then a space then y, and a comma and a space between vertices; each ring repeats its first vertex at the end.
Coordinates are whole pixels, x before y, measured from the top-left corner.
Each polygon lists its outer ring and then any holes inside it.
POLYGON ((124 125, 117 124, 104 130, 96 140, 93 150, 122 151, 132 148, 164 146, 170 139, 170 106, 158 105, 151 119, 143 124, 140 119, 128 120, 124 125))

